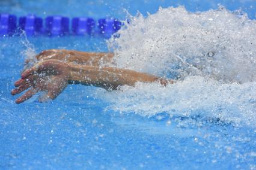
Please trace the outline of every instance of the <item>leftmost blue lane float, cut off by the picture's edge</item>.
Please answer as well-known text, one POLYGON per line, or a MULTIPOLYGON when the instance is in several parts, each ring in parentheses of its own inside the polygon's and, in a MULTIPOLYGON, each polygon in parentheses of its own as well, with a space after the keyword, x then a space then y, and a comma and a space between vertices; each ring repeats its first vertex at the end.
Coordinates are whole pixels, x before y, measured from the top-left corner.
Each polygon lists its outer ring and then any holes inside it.
POLYGON ((0 35, 13 35, 16 31, 17 17, 11 14, 0 14, 0 35))

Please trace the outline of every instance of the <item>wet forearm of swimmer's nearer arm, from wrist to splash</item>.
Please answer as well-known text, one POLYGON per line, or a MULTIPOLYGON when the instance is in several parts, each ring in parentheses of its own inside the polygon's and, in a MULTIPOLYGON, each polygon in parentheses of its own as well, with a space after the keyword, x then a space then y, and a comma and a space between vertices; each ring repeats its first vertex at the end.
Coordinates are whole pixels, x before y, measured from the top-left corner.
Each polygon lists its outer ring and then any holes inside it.
POLYGON ((154 82, 157 80, 162 83, 159 77, 128 69, 70 64, 70 83, 115 89, 117 86, 133 86, 137 81, 154 82))

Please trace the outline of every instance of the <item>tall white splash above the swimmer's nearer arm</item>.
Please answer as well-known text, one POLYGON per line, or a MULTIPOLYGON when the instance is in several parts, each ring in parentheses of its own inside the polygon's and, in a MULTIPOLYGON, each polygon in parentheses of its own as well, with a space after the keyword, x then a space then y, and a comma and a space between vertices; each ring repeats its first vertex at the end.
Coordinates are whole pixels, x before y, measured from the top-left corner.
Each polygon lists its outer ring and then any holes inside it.
POLYGON ((131 20, 118 32, 120 38, 109 41, 118 67, 179 79, 256 80, 256 21, 246 14, 237 16, 223 7, 202 13, 170 7, 131 20))

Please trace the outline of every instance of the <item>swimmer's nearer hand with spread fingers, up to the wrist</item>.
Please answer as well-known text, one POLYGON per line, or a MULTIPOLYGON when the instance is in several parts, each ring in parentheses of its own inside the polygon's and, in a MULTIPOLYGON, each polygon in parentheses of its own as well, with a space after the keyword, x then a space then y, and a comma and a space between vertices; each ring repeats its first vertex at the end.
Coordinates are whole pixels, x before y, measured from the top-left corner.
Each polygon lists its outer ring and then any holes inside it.
POLYGON ((17 95, 30 88, 17 98, 17 104, 28 100, 40 91, 47 92, 46 98, 55 99, 67 87, 69 76, 68 63, 44 60, 22 73, 21 79, 14 83, 17 88, 11 91, 11 95, 17 95))

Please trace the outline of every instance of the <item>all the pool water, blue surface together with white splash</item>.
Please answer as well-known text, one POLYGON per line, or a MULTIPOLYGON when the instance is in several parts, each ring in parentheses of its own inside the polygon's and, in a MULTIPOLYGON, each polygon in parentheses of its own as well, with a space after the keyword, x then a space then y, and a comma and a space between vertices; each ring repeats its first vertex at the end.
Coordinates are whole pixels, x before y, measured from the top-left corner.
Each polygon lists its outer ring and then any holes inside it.
POLYGON ((17 16, 131 20, 108 41, 0 38, 0 169, 256 169, 255 7, 255 1, 0 1, 0 13, 17 16), (48 48, 111 50, 118 67, 180 81, 113 92, 70 85, 54 101, 35 96, 15 104, 10 90, 23 61, 48 48))

